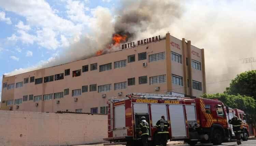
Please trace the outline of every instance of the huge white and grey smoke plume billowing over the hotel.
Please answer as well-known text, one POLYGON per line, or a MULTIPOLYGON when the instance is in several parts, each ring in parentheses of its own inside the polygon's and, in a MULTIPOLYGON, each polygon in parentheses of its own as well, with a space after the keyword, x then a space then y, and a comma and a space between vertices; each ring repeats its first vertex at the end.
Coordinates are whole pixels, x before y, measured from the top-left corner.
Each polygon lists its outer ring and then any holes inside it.
POLYGON ((168 31, 172 36, 186 38, 196 47, 205 49, 209 93, 223 91, 238 73, 255 69, 255 63, 241 63, 242 58, 256 57, 255 1, 121 2, 121 8, 112 15, 106 8, 96 8, 90 33, 59 56, 8 75, 94 56, 96 51, 112 43, 115 33, 127 35, 127 41, 130 41, 165 36, 168 31))

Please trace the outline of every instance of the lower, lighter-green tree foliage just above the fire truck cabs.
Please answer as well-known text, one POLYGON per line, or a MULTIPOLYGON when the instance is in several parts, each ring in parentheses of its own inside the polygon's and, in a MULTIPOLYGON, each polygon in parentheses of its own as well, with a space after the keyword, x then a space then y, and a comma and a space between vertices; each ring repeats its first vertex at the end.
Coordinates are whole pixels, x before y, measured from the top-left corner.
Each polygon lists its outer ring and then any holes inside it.
POLYGON ((256 130, 256 100, 254 98, 240 94, 229 95, 226 93, 203 94, 201 97, 218 99, 233 109, 237 108, 243 110, 250 115, 250 123, 253 123, 254 129, 256 130))

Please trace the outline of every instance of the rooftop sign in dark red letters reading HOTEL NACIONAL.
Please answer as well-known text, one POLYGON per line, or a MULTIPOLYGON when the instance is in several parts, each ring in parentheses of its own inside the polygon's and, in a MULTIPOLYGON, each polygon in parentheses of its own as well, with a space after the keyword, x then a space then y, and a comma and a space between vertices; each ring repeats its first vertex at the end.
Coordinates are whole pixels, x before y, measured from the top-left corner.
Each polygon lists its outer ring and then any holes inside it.
POLYGON ((139 45, 144 45, 144 44, 151 43, 151 42, 154 42, 154 41, 159 41, 159 40, 161 40, 160 35, 155 36, 155 37, 151 37, 151 38, 138 40, 137 44, 135 44, 135 42, 125 43, 125 44, 122 44, 122 49, 129 49, 129 48, 133 48, 133 47, 136 47, 136 46, 139 46, 139 45))

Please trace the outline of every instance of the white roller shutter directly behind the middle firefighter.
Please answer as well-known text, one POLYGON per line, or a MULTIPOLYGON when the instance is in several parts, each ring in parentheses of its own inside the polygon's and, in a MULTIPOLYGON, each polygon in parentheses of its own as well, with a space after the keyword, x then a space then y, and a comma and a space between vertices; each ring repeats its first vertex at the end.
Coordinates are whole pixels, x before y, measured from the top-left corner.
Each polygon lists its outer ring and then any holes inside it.
POLYGON ((152 125, 156 126, 156 122, 161 119, 161 116, 164 115, 167 119, 167 110, 166 105, 162 104, 151 104, 151 116, 152 116, 152 125))

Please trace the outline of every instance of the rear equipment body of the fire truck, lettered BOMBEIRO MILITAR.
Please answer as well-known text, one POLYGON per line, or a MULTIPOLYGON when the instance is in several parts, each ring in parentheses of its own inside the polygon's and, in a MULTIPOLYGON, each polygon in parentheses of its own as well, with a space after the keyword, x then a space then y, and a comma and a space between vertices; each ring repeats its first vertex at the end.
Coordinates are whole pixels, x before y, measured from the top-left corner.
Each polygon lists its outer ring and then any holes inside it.
MULTIPOLYGON (((189 107, 189 106, 188 106, 189 107)), ((165 116, 170 127, 170 140, 188 139, 188 125, 184 98, 176 95, 133 93, 124 99, 108 102, 108 138, 104 145, 141 145, 138 125, 142 116, 150 125, 149 143, 154 146, 156 139, 156 123, 165 116)), ((189 110, 195 111, 195 106, 189 110)), ((191 116, 191 115, 190 115, 191 116)), ((195 123, 196 117, 193 117, 195 123)))

